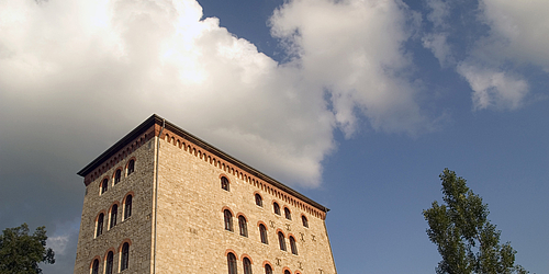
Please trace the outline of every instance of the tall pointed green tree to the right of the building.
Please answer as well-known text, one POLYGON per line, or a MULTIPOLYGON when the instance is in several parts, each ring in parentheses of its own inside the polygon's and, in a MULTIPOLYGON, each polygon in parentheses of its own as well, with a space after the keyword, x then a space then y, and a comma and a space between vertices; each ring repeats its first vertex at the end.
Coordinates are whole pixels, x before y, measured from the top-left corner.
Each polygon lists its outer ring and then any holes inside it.
POLYGON ((440 174, 442 199, 423 210, 427 235, 438 247, 442 261, 437 274, 528 273, 515 265, 516 251, 508 242, 500 244, 501 231, 488 220, 488 204, 466 185, 463 178, 445 169, 440 174))

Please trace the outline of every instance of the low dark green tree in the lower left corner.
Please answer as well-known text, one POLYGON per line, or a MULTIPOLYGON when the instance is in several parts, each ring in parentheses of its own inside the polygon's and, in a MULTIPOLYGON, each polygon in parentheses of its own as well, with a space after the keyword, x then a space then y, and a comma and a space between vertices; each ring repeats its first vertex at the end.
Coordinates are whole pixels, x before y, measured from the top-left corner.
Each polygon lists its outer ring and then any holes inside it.
POLYGON ((46 240, 46 227, 36 228, 33 235, 29 235, 26 224, 4 229, 0 235, 0 274, 42 273, 38 263, 55 263, 46 240))

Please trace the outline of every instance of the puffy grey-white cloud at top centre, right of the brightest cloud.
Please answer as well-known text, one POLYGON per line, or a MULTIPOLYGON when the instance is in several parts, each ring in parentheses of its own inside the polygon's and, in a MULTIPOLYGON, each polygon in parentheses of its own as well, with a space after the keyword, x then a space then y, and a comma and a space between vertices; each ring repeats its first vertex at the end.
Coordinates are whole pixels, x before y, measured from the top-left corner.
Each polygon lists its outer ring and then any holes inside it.
POLYGON ((360 113, 379 130, 414 134, 428 127, 403 47, 414 23, 400 1, 296 0, 271 18, 272 34, 295 54, 292 64, 304 80, 332 94, 336 122, 347 136, 360 113))

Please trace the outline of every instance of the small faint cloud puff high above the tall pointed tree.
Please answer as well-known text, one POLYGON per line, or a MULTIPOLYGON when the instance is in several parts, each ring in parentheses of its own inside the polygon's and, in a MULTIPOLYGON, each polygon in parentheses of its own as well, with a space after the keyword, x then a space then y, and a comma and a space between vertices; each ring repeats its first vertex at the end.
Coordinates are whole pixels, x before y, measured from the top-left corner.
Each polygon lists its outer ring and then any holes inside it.
POLYGON ((528 93, 528 83, 524 79, 505 71, 481 69, 463 62, 458 66, 458 72, 473 90, 475 110, 514 110, 523 104, 528 93))

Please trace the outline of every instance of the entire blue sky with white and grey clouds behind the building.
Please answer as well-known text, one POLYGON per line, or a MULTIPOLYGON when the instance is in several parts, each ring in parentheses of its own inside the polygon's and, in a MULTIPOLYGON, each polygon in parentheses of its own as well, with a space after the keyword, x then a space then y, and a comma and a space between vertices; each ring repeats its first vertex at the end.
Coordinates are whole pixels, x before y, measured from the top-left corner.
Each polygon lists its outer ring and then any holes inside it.
POLYGON ((72 273, 76 175, 153 113, 330 208, 339 273, 434 273, 444 168, 549 273, 547 0, 0 0, 0 228, 72 273))

